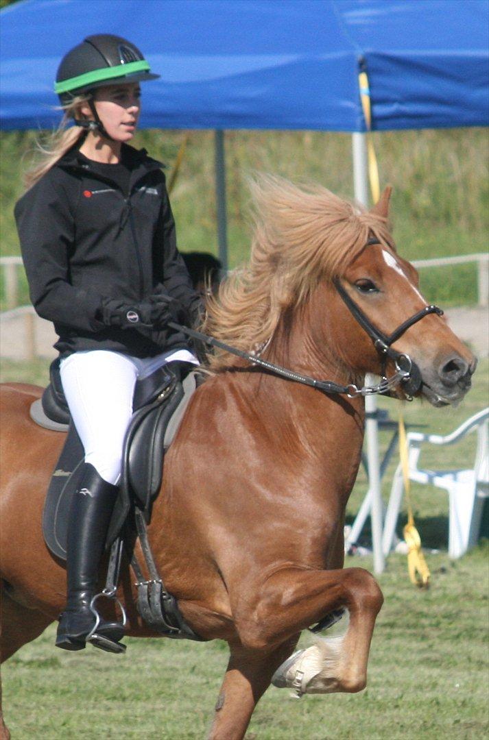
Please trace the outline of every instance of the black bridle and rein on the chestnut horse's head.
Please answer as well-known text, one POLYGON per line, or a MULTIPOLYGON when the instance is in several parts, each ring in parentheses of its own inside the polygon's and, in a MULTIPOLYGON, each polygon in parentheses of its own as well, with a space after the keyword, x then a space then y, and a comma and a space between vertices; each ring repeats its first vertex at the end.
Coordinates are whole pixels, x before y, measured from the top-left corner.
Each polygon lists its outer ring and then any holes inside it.
MULTIPOLYGON (((376 239, 369 239, 366 246, 379 243, 380 242, 376 239)), ((408 354, 398 352, 396 349, 392 349, 390 345, 393 344, 397 339, 399 339, 399 337, 402 337, 402 334, 404 334, 410 328, 410 326, 413 326, 413 324, 417 323, 425 316, 428 316, 429 314, 437 314, 438 316, 442 316, 442 309, 439 309, 438 306, 434 305, 425 306, 424 309, 421 309, 421 311, 418 311, 416 314, 405 320, 402 324, 400 324, 400 326, 397 327, 397 329, 392 332, 392 334, 389 334, 387 336, 387 334, 381 332, 380 329, 377 329, 376 326, 371 323, 370 319, 365 316, 364 312, 362 312, 362 309, 357 306, 353 298, 351 298, 350 295, 346 292, 345 288, 339 282, 338 278, 333 280, 333 283, 336 287, 336 290, 339 292, 339 295, 344 300, 347 308, 350 310, 350 313, 353 315, 357 323, 362 326, 362 329, 367 332, 368 336, 373 341, 373 346, 382 357, 381 380, 380 383, 378 383, 378 385, 376 386, 363 386, 362 388, 359 388, 354 383, 350 383, 349 386, 340 386, 338 383, 334 383, 333 380, 318 380, 314 377, 302 375, 294 372, 293 370, 288 370, 287 368, 275 365, 274 363, 270 363, 267 360, 262 360, 262 358, 258 357, 256 354, 245 352, 242 349, 236 349, 236 347, 225 344, 224 342, 221 342, 214 337, 210 337, 207 334, 197 332, 195 329, 188 329, 187 326, 182 326, 181 324, 175 323, 173 321, 169 321, 168 326, 170 326, 172 329, 176 329, 179 332, 187 334, 187 336, 191 337, 192 339, 199 340, 205 346, 219 347, 219 349, 224 349, 224 351, 227 351, 230 354, 235 354, 236 357, 242 357, 243 360, 248 360, 248 362, 252 363, 253 365, 262 367, 275 375, 279 375, 279 377, 285 377, 287 380, 293 380, 293 382, 295 383, 302 383, 302 385, 304 386, 317 388, 317 390, 323 391, 324 393, 345 394, 349 398, 355 398, 357 396, 371 396, 374 394, 386 394, 390 391, 390 388, 392 386, 395 386, 396 383, 402 382, 405 383, 404 391, 408 399, 412 400, 411 397, 413 396, 413 394, 416 393, 416 391, 419 390, 422 385, 421 372, 419 371, 416 363, 411 360, 408 354), (389 357, 390 360, 393 360, 394 366, 396 367, 395 373, 390 377, 386 377, 384 374, 387 357, 389 357)))

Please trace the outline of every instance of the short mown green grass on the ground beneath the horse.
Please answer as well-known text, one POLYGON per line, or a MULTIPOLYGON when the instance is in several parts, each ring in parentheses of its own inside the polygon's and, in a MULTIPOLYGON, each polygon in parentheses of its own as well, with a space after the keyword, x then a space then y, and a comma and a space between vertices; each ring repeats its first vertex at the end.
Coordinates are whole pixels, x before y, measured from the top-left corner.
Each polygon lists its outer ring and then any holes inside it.
MULTIPOLYGON (((47 363, 2 363, 3 380, 44 384, 47 363)), ((458 408, 405 405, 406 421, 445 433, 488 404, 489 361, 458 408)), ((399 404, 380 400, 396 417, 399 404)), ((387 440, 382 440, 385 445, 387 440)), ((466 465, 471 440, 427 462, 466 465)), ((385 495, 395 461, 385 478, 385 495)), ((361 470, 348 506, 351 521, 365 495, 361 470)), ((393 554, 379 576, 385 605, 370 653, 369 682, 359 695, 305 696, 271 687, 257 707, 248 740, 448 740, 488 737, 488 540, 455 562, 446 554, 447 497, 413 485, 416 525, 432 573, 428 591, 410 584, 405 556, 393 554), (435 549, 437 552, 433 552, 435 549)), ((403 519, 399 522, 399 531, 403 519)), ((487 517, 486 517, 487 525, 487 517)), ((364 542, 369 544, 368 532, 364 542)), ((370 557, 345 564, 369 570, 370 557)), ((341 629, 341 623, 335 630, 341 629)), ((92 647, 64 653, 51 626, 13 656, 2 672, 13 740, 203 738, 227 662, 227 646, 127 639, 125 656, 92 647)), ((302 645, 311 642, 304 635, 302 645)))

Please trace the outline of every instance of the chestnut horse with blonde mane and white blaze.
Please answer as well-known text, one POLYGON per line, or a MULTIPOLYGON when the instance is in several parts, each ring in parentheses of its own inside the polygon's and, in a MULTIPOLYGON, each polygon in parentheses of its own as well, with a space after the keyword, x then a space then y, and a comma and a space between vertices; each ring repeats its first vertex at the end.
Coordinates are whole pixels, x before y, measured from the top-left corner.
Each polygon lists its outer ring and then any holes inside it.
MULTIPOLYGON (((345 506, 364 427, 356 386, 367 372, 400 380, 393 357, 403 357, 419 369, 417 394, 442 406, 462 398, 475 369, 441 312, 422 310, 416 271, 397 255, 387 226, 388 189, 371 211, 319 186, 299 189, 276 178, 256 181, 253 190, 250 264, 210 301, 206 330, 287 369, 349 386, 349 394, 285 380, 219 351, 167 453, 150 542, 184 619, 203 638, 230 646, 210 732, 226 740, 245 735, 301 630, 335 610, 349 613, 345 635, 324 639, 319 653, 314 647, 318 665, 300 688, 365 687, 382 593, 367 571, 343 569, 345 506), (392 347, 374 346, 345 296, 392 347)), ((393 392, 404 398, 403 383, 393 392)), ((40 394, 16 383, 3 389, 5 659, 64 604, 64 567, 41 534, 64 435, 30 420, 40 394)), ((119 591, 127 634, 152 635, 137 613, 127 563, 119 591)), ((282 668, 282 684, 294 684, 294 660, 282 668)))

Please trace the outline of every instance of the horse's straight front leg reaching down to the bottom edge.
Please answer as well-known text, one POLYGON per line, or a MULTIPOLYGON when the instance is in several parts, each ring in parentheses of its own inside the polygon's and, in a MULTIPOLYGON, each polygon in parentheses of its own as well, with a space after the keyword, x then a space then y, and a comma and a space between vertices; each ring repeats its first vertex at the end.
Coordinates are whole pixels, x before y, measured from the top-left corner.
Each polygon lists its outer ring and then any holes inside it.
POLYGON ((210 740, 241 740, 275 670, 292 653, 299 634, 270 652, 230 644, 230 659, 216 702, 210 740))

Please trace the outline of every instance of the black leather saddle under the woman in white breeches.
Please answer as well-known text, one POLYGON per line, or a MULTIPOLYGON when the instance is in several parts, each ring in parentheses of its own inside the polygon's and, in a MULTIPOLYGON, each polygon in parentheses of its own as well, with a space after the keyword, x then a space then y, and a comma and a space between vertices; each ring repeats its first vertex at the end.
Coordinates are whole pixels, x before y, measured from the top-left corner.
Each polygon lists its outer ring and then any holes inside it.
MULTIPOLYGON (((153 500, 162 485, 164 451, 179 428, 199 380, 199 372, 192 363, 174 362, 136 383, 134 413, 124 440, 120 492, 110 522, 107 548, 122 530, 134 505, 144 512, 149 522, 153 500)), ((47 491, 42 519, 47 547, 64 560, 70 502, 79 482, 84 449, 64 398, 59 360, 52 363, 50 384, 42 398, 33 403, 30 416, 44 427, 67 431, 47 491)))

